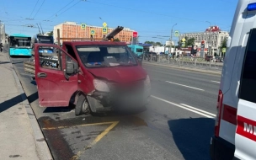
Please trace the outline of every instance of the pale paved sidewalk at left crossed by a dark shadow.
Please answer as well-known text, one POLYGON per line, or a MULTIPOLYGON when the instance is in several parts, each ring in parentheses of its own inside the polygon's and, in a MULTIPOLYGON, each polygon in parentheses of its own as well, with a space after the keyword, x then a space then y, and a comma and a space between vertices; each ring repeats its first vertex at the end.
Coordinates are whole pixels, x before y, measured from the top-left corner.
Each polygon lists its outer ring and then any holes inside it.
POLYGON ((7 52, 0 52, 0 159, 52 159, 7 52))

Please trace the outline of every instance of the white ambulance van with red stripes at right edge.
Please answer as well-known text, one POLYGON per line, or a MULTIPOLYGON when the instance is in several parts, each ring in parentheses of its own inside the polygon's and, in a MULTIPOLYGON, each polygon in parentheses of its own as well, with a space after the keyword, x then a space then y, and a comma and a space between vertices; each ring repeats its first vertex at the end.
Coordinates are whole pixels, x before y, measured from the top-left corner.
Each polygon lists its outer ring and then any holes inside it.
POLYGON ((227 48, 211 159, 256 159, 256 0, 238 0, 227 48))

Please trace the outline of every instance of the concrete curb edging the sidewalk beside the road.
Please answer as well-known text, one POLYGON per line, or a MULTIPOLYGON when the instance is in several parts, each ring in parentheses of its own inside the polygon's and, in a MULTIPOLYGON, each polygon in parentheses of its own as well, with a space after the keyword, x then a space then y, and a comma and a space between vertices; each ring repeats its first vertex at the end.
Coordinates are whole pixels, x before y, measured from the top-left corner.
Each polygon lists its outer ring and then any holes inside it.
MULTIPOLYGON (((8 56, 9 61, 10 58, 8 56)), ((13 66, 13 64, 12 64, 13 66)), ((35 146, 36 146, 36 152, 38 157, 41 160, 52 160, 51 151, 45 141, 45 136, 43 135, 42 131, 40 130, 40 126, 36 120, 35 113, 33 109, 31 108, 29 101, 24 93, 24 89, 19 81, 19 77, 17 75, 17 72, 15 71, 13 67, 13 77, 15 78, 16 85, 18 87, 19 93, 21 94, 21 98, 23 100, 24 107, 27 111, 27 115, 29 116, 30 125, 32 127, 33 133, 34 133, 34 140, 35 140, 35 146)))

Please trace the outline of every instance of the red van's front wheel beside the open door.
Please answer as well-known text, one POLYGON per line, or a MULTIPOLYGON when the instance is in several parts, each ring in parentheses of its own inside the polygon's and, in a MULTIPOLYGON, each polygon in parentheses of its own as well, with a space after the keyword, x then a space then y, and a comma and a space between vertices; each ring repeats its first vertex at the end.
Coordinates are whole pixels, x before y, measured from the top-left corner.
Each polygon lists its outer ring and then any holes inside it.
POLYGON ((90 109, 89 109, 88 100, 83 94, 81 94, 77 99, 75 114, 83 115, 83 114, 89 114, 89 113, 90 113, 90 109))

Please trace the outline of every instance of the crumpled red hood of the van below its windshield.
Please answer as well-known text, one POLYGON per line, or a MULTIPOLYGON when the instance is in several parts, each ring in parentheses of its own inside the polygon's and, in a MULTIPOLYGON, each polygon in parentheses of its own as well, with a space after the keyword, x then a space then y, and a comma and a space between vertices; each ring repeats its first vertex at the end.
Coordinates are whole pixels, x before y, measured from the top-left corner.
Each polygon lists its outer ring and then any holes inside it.
POLYGON ((140 66, 89 68, 88 72, 116 83, 131 83, 147 77, 147 72, 140 66))

